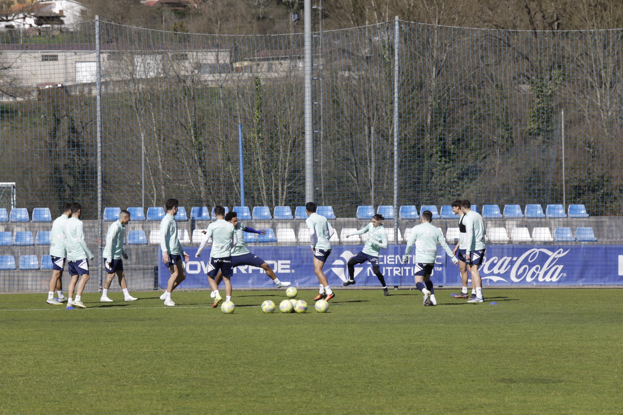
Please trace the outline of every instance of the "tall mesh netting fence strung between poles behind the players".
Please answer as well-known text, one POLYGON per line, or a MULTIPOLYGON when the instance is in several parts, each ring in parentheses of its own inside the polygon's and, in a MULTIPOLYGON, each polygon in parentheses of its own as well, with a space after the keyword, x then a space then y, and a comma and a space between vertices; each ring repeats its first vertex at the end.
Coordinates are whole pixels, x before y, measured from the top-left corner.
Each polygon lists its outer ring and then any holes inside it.
MULTIPOLYGON (((402 21, 314 34, 314 199, 333 209, 333 242, 361 243, 346 234, 381 209, 393 219, 390 243, 404 243, 418 223, 412 206, 430 205, 454 246, 448 205, 467 198, 492 244, 619 243, 622 35, 402 21)), ((297 217, 307 202, 303 57, 302 34, 100 21, 0 32, 0 182, 15 183, 16 203, 0 222, 11 234, 0 255, 17 269, 0 270, 0 290, 44 289, 49 271, 22 267, 22 255, 39 269, 47 255, 37 235, 50 223, 33 209, 54 219, 67 201, 82 204, 93 252, 110 224, 106 207, 147 216, 133 215, 126 230, 138 232, 126 265, 134 289, 154 285, 159 212, 148 208, 168 198, 186 208, 184 244, 207 226, 193 207, 219 204, 249 207, 245 222, 275 234, 262 244, 307 245, 297 217), (13 219, 17 208, 27 221, 13 219)))

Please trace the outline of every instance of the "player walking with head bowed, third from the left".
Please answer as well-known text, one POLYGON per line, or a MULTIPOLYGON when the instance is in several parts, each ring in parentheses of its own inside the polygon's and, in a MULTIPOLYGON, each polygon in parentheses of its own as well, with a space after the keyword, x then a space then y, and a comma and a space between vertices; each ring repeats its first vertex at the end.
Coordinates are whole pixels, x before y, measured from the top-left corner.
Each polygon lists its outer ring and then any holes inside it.
POLYGON ((106 246, 104 247, 104 267, 106 268, 107 277, 104 281, 102 289, 101 302, 112 302, 108 298, 108 287, 113 282, 115 274, 119 280, 121 290, 123 290, 124 301, 136 301, 138 298, 132 297, 128 292, 128 284, 125 281, 125 272, 123 272, 123 259, 128 259, 128 254, 123 249, 123 239, 125 236, 125 226, 130 222, 130 212, 123 210, 119 214, 119 220, 108 227, 106 234, 106 246), (123 259, 121 259, 123 257, 123 259))

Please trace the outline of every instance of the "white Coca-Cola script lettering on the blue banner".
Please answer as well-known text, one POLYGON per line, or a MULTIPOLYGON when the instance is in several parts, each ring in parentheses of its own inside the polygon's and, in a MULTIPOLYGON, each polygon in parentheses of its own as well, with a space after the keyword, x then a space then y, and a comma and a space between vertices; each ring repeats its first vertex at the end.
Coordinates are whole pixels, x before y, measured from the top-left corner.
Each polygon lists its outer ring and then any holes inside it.
POLYGON ((558 249, 552 252, 545 248, 533 248, 526 250, 520 257, 488 257, 480 268, 482 279, 508 282, 498 275, 510 274, 512 282, 556 282, 566 276, 563 264, 557 262, 569 250, 558 249))

